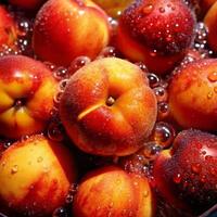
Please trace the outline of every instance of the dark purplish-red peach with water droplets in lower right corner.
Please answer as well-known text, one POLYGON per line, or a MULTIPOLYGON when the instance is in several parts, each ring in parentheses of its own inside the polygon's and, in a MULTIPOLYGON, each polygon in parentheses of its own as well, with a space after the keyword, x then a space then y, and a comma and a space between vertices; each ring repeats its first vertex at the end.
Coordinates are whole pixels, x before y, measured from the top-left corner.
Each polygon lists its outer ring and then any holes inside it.
POLYGON ((200 214, 217 201, 216 164, 217 137, 184 130, 155 161, 156 188, 175 207, 200 214))

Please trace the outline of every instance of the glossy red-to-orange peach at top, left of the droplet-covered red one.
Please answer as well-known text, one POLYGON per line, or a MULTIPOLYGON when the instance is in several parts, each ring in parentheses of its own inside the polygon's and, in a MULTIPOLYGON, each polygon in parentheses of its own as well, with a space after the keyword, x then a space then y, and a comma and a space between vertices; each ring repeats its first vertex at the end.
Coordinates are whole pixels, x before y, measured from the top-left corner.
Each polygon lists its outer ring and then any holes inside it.
POLYGON ((107 16, 90 0, 49 0, 37 14, 33 47, 42 60, 69 65, 94 59, 110 38, 107 16))

